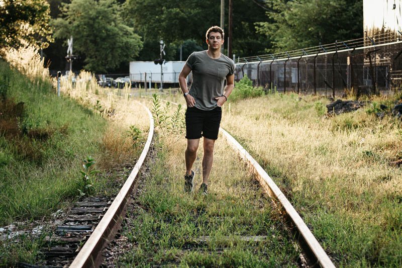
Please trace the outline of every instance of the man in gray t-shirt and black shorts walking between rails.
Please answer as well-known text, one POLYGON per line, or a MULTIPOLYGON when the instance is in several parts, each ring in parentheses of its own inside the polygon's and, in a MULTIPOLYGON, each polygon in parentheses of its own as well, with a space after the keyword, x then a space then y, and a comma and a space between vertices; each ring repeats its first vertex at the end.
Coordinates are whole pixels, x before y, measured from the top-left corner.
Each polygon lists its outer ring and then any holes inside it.
POLYGON ((208 29, 206 42, 208 50, 193 52, 179 74, 180 88, 187 104, 184 191, 191 192, 193 189, 194 171, 191 168, 197 156, 199 139, 204 137, 203 183, 200 191, 205 195, 208 193, 214 145, 221 123, 221 107, 233 91, 235 77, 235 63, 221 54, 223 29, 218 26, 208 29), (187 90, 186 77, 190 71, 192 83, 187 90))

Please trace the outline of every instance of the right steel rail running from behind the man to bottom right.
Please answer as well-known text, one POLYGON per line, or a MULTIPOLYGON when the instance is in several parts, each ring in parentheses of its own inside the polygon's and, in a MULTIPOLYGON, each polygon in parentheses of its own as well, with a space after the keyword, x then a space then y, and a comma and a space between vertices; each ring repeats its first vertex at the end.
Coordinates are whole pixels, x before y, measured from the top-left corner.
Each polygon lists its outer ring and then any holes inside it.
MULTIPOLYGON (((143 98, 150 98, 143 96, 143 98)), ((166 100, 163 100, 166 102, 166 100)), ((170 102, 171 104, 178 105, 177 103, 170 102)), ((310 231, 309 227, 303 221, 302 217, 293 208, 291 203, 287 200, 285 195, 280 191, 279 187, 275 184, 272 178, 265 172, 261 165, 251 156, 240 143, 232 137, 225 129, 219 128, 220 131, 225 136, 228 143, 232 148, 237 151, 240 157, 248 162, 254 169, 257 175, 258 181, 262 188, 267 192, 267 194, 276 201, 275 204, 282 212, 285 213, 287 218, 291 221, 293 226, 296 228, 296 233, 298 234, 298 240, 300 245, 309 255, 310 260, 313 260, 313 265, 319 264, 324 268, 335 268, 334 263, 331 261, 330 257, 327 255, 323 247, 317 241, 316 237, 310 231)))

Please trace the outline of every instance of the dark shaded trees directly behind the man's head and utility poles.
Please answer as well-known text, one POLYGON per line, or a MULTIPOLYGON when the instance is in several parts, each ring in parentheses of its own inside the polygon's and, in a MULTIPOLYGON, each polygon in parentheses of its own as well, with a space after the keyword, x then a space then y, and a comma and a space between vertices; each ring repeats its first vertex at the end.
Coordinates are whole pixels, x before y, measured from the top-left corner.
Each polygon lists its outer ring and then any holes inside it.
MULTIPOLYGON (((236 55, 262 53, 270 45, 269 37, 257 33, 254 26, 255 22, 268 20, 259 5, 249 0, 234 1, 232 47, 236 55)), ((166 52, 166 58, 177 60, 179 54, 175 51, 185 40, 195 40, 199 47, 207 49, 205 32, 213 25, 220 25, 220 1, 216 0, 128 0, 125 7, 127 23, 143 37, 145 43, 151 45, 144 46, 147 52, 141 52, 140 58, 143 60, 147 60, 151 49, 155 55, 159 53, 160 39, 163 39, 166 47, 175 48, 169 51, 172 55, 166 52)), ((225 8, 227 12, 228 5, 225 8)), ((225 18, 227 21, 228 14, 225 18)), ((224 30, 228 32, 228 27, 224 30)))

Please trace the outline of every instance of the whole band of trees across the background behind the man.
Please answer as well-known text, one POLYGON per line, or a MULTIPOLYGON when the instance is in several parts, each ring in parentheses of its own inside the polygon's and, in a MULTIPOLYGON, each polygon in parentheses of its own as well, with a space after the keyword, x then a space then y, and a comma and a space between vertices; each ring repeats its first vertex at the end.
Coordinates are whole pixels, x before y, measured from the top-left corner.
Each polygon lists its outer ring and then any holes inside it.
MULTIPOLYGON (((125 72, 130 60, 185 60, 207 49, 205 32, 220 25, 216 0, 5 0, 0 1, 0 46, 21 37, 46 47, 54 20, 55 42, 45 50, 51 67, 64 68, 66 40, 73 36, 78 68, 125 72), (49 8, 50 5, 50 8, 49 8), (59 9, 59 7, 62 7, 59 9), (30 31, 25 31, 25 26, 30 31), (26 39, 27 39, 26 38, 26 39)), ((362 36, 362 0, 233 0, 232 51, 260 55, 362 36)), ((225 1, 227 54, 228 0, 225 1)), ((230 55, 232 57, 232 55, 230 55)))

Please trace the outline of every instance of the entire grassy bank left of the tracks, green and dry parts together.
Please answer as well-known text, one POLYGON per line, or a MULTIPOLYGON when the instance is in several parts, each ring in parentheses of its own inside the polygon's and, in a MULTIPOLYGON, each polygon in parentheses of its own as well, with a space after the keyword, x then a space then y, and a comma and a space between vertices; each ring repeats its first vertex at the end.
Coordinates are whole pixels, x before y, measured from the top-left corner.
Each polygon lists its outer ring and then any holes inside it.
MULTIPOLYGON (((102 171, 92 194, 115 194, 114 185, 126 179, 119 170, 134 165, 141 153, 149 119, 128 98, 102 94, 85 72, 75 86, 64 79, 58 98, 47 69, 38 67, 43 62, 28 52, 13 51, 12 68, 0 61, 0 226, 29 230, 42 224, 46 230, 51 213, 78 199, 87 156, 102 171), (94 109, 96 100, 103 111, 94 109)), ((46 232, 2 238, 0 266, 34 263, 46 232)))

